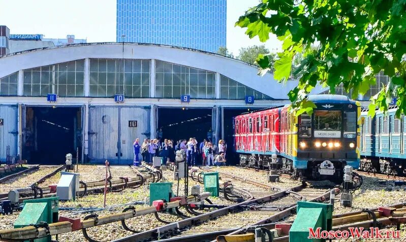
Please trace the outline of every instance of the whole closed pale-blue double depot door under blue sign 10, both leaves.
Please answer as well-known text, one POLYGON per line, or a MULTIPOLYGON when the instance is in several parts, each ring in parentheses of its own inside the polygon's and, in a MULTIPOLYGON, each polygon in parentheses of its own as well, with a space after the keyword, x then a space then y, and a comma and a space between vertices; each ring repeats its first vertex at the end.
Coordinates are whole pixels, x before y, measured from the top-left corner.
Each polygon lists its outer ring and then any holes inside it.
POLYGON ((133 143, 149 133, 150 109, 142 107, 89 107, 89 158, 92 163, 132 164, 133 143), (138 121, 136 128, 129 121, 138 121), (121 157, 116 156, 121 150, 121 157))

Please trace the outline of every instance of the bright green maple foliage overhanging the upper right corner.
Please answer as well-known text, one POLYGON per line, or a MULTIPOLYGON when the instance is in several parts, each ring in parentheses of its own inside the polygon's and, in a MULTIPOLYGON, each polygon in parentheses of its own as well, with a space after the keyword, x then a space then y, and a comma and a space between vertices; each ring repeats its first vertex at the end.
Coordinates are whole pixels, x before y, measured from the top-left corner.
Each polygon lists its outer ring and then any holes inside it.
MULTIPOLYGON (((369 108, 386 111, 396 97, 400 115, 406 114, 405 15, 406 0, 263 0, 246 11, 236 26, 246 28, 250 38, 258 36, 265 42, 273 33, 283 42, 274 78, 299 79, 288 94, 297 114, 312 106, 306 96, 317 84, 334 93, 342 83, 356 98, 384 71, 390 82, 371 97, 369 108), (300 63, 292 66, 298 53, 300 63)), ((268 57, 259 58, 260 67, 270 70, 268 57)))

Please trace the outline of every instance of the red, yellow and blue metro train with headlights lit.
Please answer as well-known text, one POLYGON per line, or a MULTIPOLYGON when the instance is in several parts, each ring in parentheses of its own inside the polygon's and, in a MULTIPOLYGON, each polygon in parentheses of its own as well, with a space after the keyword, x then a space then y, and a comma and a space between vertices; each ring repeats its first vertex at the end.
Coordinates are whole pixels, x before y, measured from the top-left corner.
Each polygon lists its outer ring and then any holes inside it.
POLYGON ((361 107, 342 95, 310 95, 317 108, 298 117, 290 105, 234 117, 241 166, 270 167, 301 180, 341 180, 360 162, 361 107))

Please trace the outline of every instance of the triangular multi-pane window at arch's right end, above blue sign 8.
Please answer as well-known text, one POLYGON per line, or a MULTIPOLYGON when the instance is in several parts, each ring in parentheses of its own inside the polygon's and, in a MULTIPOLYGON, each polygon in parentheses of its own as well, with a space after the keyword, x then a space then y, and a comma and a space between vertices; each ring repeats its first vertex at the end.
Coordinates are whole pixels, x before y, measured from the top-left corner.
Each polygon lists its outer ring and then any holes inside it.
POLYGON ((220 75, 220 98, 245 99, 245 96, 254 96, 254 99, 272 99, 261 92, 249 88, 233 79, 220 75))

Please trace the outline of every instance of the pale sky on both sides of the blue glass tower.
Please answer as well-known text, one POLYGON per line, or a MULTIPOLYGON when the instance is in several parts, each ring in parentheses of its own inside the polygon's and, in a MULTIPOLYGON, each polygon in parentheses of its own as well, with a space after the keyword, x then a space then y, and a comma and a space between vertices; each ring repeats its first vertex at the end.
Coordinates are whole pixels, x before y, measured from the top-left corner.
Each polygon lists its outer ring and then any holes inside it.
MULTIPOLYGON (((262 44, 258 37, 249 39, 245 29, 234 27, 238 17, 257 4, 258 0, 227 0, 227 48, 235 56, 241 47, 262 44)), ((0 6, 0 25, 7 25, 12 34, 44 34, 52 39, 74 34, 88 43, 116 41, 115 0, 0 0, 0 6)), ((270 36, 265 46, 275 52, 281 44, 270 36)))

